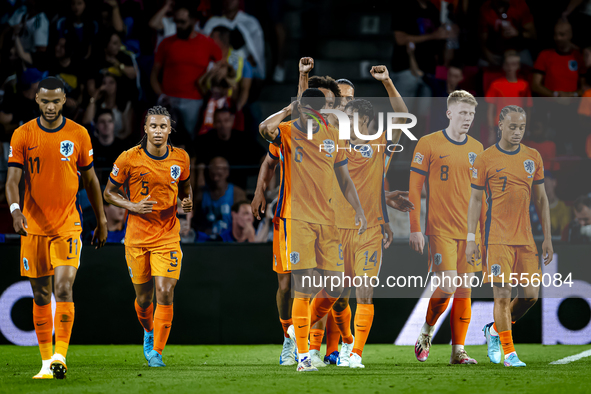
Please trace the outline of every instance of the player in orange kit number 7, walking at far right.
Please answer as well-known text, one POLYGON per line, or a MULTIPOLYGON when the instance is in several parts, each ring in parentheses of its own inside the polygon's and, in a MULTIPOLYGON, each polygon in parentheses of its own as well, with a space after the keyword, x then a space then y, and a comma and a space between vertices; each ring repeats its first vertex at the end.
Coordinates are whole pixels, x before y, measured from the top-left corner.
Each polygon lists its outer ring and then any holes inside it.
POLYGON ((541 218, 544 242, 544 264, 552 261, 550 205, 544 188, 544 163, 540 153, 521 144, 525 133, 526 115, 523 108, 509 105, 501 110, 499 129, 501 139, 474 162, 472 196, 468 210, 468 246, 466 258, 478 249, 475 230, 486 191, 486 222, 484 225, 485 264, 484 283, 493 282, 495 298, 494 323, 484 326, 490 360, 501 362, 505 353, 506 367, 525 367, 513 346, 511 322, 515 323, 538 300, 541 267, 534 243, 529 204, 532 189, 534 204, 541 218), (517 286, 517 297, 511 301, 511 290, 517 286))

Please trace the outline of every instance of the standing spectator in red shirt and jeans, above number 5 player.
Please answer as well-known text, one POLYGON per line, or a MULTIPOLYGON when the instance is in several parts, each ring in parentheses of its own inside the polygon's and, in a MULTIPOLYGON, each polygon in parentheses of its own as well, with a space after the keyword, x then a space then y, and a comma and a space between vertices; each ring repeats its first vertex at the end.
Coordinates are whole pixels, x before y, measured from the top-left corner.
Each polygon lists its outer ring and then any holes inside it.
POLYGON ((165 38, 158 46, 150 81, 152 89, 160 96, 158 103, 171 109, 177 131, 188 133, 194 139, 203 105, 199 78, 207 71, 210 61, 222 58, 222 51, 211 38, 195 31, 194 7, 177 2, 174 21, 176 34, 165 38))

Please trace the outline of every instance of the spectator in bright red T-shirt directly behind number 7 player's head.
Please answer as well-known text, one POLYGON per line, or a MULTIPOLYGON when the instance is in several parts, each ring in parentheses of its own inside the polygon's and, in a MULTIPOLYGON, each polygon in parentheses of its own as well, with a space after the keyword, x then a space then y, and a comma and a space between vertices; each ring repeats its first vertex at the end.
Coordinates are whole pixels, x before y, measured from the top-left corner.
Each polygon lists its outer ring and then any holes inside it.
POLYGON ((508 51, 503 61, 505 76, 495 80, 486 92, 488 103, 488 144, 493 145, 497 140, 497 124, 501 110, 507 105, 517 105, 527 111, 529 115, 533 105, 529 82, 520 78, 517 73, 521 68, 521 59, 515 51, 508 51))

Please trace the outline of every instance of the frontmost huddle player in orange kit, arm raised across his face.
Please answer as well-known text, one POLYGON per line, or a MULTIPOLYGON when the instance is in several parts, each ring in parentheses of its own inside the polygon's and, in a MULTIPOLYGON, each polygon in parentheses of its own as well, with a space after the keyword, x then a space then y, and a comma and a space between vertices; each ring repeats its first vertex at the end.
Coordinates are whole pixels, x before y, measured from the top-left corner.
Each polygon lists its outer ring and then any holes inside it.
POLYGON ((282 165, 285 166, 281 182, 283 198, 277 203, 277 212, 281 217, 280 251, 285 255, 284 269, 292 271, 295 297, 293 326, 288 333, 297 342, 299 372, 317 371, 311 363, 308 347, 310 327, 330 311, 343 290, 342 283, 332 282, 343 272, 343 264, 338 264, 339 236, 331 203, 335 174, 341 192, 354 207, 359 232, 366 230, 365 215, 347 169, 345 146, 337 145, 338 130, 327 125, 317 112, 325 103, 320 90, 307 89, 297 103, 300 118, 290 125, 282 123, 291 115, 290 105, 259 125, 265 139, 281 145, 282 165), (306 133, 308 119, 316 122, 311 139, 306 133), (320 286, 304 280, 317 274, 323 279, 320 286), (314 287, 321 291, 311 307, 314 287))

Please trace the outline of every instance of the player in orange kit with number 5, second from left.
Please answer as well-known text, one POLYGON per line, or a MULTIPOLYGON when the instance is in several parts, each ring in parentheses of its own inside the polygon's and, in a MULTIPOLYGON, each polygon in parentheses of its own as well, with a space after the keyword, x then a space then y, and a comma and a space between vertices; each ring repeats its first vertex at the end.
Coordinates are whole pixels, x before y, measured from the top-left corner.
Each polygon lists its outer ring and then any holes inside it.
POLYGON ((146 135, 139 145, 117 158, 104 193, 105 201, 129 213, 125 259, 136 294, 135 310, 144 328, 144 357, 150 367, 166 366, 162 350, 172 326, 174 288, 183 260, 177 199, 182 199, 185 212, 193 209, 189 155, 170 143, 171 121, 163 107, 148 110, 146 135), (122 186, 129 199, 120 194, 122 186))

